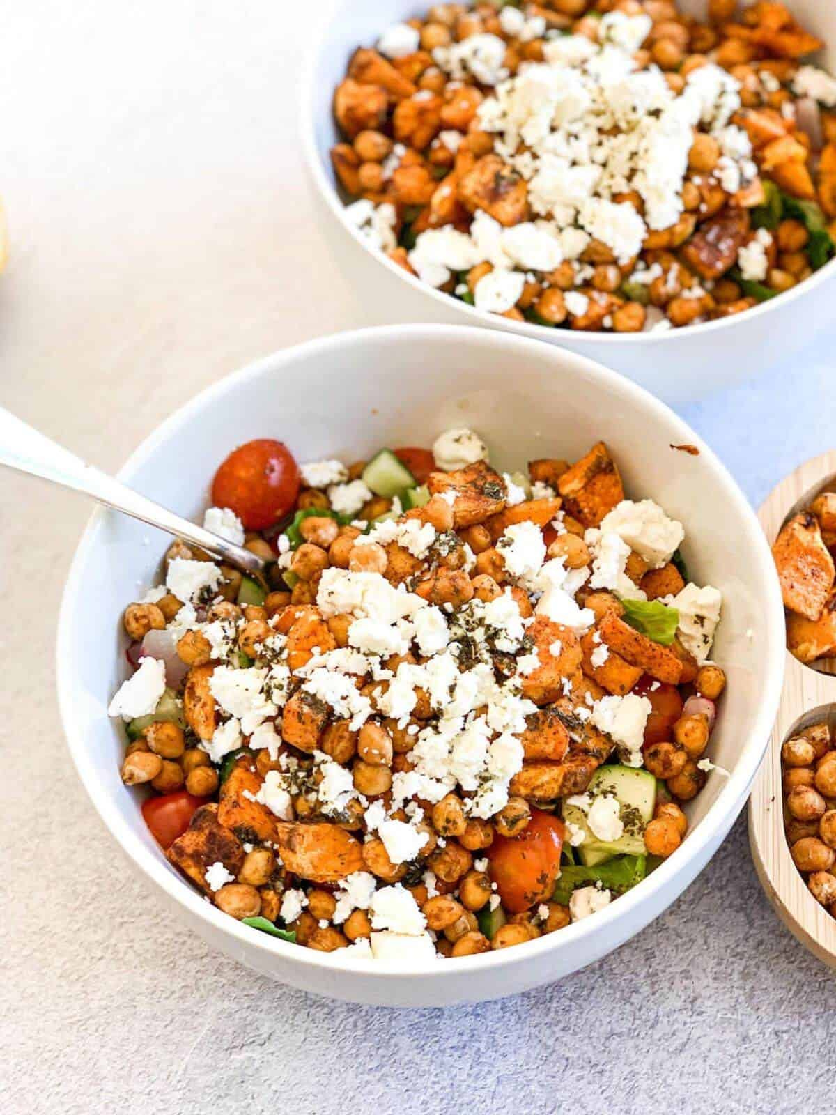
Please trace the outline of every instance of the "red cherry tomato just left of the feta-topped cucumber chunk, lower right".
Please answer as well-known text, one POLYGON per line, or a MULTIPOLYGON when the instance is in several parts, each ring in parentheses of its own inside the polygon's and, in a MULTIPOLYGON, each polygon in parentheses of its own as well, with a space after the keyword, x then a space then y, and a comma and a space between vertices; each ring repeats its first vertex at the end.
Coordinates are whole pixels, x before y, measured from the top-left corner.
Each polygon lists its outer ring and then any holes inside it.
POLYGON ((488 872, 506 910, 522 913, 552 896, 565 832, 560 817, 532 809, 532 820, 518 836, 494 837, 486 853, 488 872))

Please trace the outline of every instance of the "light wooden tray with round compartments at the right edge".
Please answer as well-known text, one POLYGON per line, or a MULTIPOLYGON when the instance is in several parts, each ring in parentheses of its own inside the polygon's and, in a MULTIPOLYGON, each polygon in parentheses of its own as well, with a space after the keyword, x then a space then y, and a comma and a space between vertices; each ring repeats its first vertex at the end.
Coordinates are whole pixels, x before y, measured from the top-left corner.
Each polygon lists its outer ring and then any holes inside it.
MULTIPOLYGON (((806 462, 786 477, 758 512, 771 545, 786 518, 833 485, 836 450, 806 462)), ((803 666, 787 652, 778 716, 749 802, 749 844, 758 878, 784 924, 819 960, 836 968, 836 919, 807 890, 784 834, 780 749, 799 728, 822 720, 836 727, 836 661, 803 666)))

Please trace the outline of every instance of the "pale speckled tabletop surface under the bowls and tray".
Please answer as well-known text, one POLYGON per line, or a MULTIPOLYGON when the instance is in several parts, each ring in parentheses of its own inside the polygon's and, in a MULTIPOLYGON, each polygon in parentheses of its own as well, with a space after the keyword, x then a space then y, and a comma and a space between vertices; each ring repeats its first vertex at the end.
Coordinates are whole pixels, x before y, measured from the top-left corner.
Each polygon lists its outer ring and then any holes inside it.
MULTIPOLYGON (((13 254, 0 399, 103 467, 263 352, 429 312, 406 288, 381 289, 311 196, 295 75, 312 7, 4 6, 0 194, 13 254)), ((830 337, 796 368, 684 411, 754 503, 833 445, 830 337)), ((832 1104, 833 978, 774 917, 742 821, 641 937, 557 986, 480 1007, 314 1000, 178 931, 105 833, 61 737, 55 621, 87 513, 0 475, 3 1115, 832 1104)))

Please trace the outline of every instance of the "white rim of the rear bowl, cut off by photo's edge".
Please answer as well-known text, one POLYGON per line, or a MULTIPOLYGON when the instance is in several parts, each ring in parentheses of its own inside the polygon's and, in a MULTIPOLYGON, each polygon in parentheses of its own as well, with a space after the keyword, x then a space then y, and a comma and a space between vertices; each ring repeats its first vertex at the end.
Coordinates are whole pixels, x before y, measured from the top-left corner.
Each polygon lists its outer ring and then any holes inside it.
POLYGON ((409 271, 401 268, 393 260, 390 260, 383 252, 379 252, 373 249, 360 235, 359 229, 351 224, 351 222, 346 217, 347 206, 343 205, 340 200, 336 185, 329 180, 319 157, 319 151, 315 142, 317 114, 314 108, 317 68, 320 57, 324 52, 325 45, 330 39, 330 27, 333 20, 340 17, 343 10, 349 7, 350 2, 351 0, 331 0, 330 7, 323 13, 319 30, 312 36, 312 41, 303 55, 301 70, 302 95, 300 97, 298 120, 305 164, 313 177, 314 183, 317 184, 317 187, 319 188, 320 195, 324 198, 325 204, 331 210, 331 213, 368 255, 377 260, 378 263, 381 263, 392 274, 407 282, 414 290, 420 291, 422 294, 430 295, 440 306, 446 306, 456 312, 465 314, 472 323, 482 322, 492 329, 515 332, 522 337, 531 337, 535 340, 547 340, 548 343, 552 345, 562 345, 564 341, 562 334, 567 333, 568 337, 565 338, 566 343, 571 346, 577 345, 580 349, 597 345, 605 345, 609 347, 624 345, 632 348, 641 345, 670 345, 678 340, 687 340, 689 337, 702 337, 709 333, 733 329, 739 323, 740 318, 746 318, 747 321, 754 322, 756 317, 762 318, 766 314, 774 312, 776 309, 789 307, 794 301, 796 301, 796 299, 804 298, 807 291, 814 290, 830 275, 836 275, 836 256, 834 256, 834 259, 829 260, 823 268, 819 268, 818 271, 814 271, 814 273, 803 282, 797 283, 788 291, 784 291, 779 298, 770 298, 766 302, 759 302, 757 306, 746 310, 745 313, 732 314, 732 317, 729 318, 718 318, 715 321, 703 321, 699 324, 688 326, 683 329, 667 329, 659 331, 651 330, 649 332, 639 333, 615 333, 606 332, 605 330, 590 332, 583 330, 547 330, 544 326, 537 326, 531 321, 514 321, 513 319, 504 318, 498 313, 489 313, 487 310, 478 310, 475 306, 469 306, 467 302, 463 302, 460 299, 454 298, 451 294, 446 294, 444 291, 437 290, 435 287, 430 287, 428 283, 421 282, 417 275, 410 274, 409 271))

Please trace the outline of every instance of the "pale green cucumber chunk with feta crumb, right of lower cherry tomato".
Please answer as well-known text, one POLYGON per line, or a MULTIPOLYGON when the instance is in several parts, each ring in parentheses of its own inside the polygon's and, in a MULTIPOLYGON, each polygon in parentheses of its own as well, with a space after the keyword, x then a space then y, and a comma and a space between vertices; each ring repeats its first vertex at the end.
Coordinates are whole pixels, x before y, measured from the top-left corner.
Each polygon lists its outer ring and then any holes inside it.
POLYGON ((614 855, 642 855, 644 828, 653 817, 657 780, 649 770, 626 766, 599 767, 590 779, 587 793, 594 799, 612 794, 621 806, 624 833, 618 840, 602 841, 590 828, 586 814, 577 805, 563 804, 563 820, 583 830, 583 843, 577 846, 581 863, 587 867, 611 860, 614 855))

